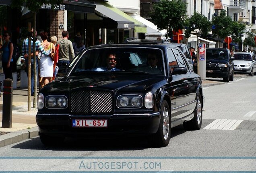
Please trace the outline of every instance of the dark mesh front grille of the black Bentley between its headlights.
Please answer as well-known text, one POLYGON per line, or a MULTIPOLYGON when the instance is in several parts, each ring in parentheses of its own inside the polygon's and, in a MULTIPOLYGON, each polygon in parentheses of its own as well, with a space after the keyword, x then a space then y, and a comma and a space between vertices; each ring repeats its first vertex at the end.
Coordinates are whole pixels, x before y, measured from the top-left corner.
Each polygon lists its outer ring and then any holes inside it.
POLYGON ((70 112, 111 113, 113 95, 109 91, 75 91, 70 95, 70 112))

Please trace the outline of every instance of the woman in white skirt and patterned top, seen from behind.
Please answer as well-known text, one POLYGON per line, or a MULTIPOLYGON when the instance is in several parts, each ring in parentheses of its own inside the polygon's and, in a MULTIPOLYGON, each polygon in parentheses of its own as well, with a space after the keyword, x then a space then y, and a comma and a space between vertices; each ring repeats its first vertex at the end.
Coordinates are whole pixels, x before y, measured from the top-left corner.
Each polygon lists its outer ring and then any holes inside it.
MULTIPOLYGON (((41 43, 43 46, 43 49, 45 50, 45 52, 50 54, 51 50, 54 48, 54 45, 47 41, 48 33, 42 32, 41 38, 43 40, 43 42, 41 43)), ((53 76, 52 58, 50 57, 50 55, 45 56, 44 54, 41 54, 41 59, 39 61, 39 64, 40 64, 40 76, 43 77, 43 82, 41 84, 42 85, 41 87, 43 87, 44 85, 50 82, 53 76)))

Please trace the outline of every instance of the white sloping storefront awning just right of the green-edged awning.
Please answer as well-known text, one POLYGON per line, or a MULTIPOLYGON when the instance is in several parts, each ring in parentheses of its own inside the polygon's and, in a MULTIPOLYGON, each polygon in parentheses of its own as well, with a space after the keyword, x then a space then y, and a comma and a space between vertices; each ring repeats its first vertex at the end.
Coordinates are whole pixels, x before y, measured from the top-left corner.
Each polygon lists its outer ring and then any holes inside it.
POLYGON ((140 16, 131 17, 147 26, 147 32, 145 33, 145 36, 164 36, 167 32, 167 30, 158 31, 157 26, 145 18, 142 18, 140 16))

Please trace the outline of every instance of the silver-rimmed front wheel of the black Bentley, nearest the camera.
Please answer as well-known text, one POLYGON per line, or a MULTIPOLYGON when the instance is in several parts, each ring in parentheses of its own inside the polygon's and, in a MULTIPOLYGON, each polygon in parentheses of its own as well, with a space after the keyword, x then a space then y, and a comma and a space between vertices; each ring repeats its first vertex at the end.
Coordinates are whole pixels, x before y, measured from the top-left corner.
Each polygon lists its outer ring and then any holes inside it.
POLYGON ((153 138, 157 147, 166 147, 171 136, 171 113, 167 101, 163 101, 161 106, 161 118, 157 133, 153 138))

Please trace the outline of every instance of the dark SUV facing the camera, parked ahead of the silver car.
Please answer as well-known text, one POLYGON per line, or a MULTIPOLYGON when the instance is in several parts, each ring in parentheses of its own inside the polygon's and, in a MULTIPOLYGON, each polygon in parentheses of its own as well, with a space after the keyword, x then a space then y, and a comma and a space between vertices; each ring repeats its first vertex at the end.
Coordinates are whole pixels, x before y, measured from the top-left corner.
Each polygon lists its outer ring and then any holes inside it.
POLYGON ((234 79, 234 58, 227 48, 206 48, 206 77, 234 79))

